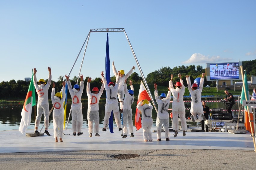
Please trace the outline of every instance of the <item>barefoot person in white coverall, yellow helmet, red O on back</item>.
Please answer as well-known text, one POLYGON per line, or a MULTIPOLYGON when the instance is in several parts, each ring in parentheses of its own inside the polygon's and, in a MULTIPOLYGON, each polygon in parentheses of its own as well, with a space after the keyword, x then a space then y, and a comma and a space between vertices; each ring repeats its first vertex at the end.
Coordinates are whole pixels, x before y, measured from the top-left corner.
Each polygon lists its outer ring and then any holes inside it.
POLYGON ((63 129, 64 129, 64 102, 66 98, 65 93, 65 81, 62 82, 63 89, 62 89, 62 96, 61 93, 57 92, 55 94, 55 83, 53 82, 53 89, 52 89, 52 104, 53 104, 53 136, 55 138, 55 142, 58 142, 58 136, 60 142, 62 141, 63 137, 63 129))

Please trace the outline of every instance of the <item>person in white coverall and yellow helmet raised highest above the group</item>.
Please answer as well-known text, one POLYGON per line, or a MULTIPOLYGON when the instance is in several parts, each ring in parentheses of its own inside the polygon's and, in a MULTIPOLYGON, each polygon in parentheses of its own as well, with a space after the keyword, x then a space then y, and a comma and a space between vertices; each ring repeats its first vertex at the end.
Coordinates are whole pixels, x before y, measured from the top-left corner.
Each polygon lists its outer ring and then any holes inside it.
MULTIPOLYGON (((115 68, 114 61, 112 63, 112 69, 113 69, 114 75, 117 78, 118 72, 115 68)), ((117 95, 118 95, 118 99, 119 99, 119 102, 120 102, 121 112, 123 111, 123 98, 124 98, 123 84, 124 84, 124 80, 127 79, 132 74, 133 70, 135 70, 135 66, 133 66, 133 68, 127 74, 124 74, 124 70, 120 70, 120 80, 119 80, 119 83, 118 83, 119 87, 118 87, 117 95)))

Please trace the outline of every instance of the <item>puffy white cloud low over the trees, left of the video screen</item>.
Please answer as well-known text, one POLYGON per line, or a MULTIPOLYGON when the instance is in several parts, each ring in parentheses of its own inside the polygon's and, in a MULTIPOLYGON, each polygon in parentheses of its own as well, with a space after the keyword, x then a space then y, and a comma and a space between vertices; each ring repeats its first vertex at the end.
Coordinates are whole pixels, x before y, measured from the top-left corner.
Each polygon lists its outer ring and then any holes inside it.
POLYGON ((200 53, 194 53, 192 56, 182 63, 210 63, 210 62, 220 62, 222 60, 231 60, 231 58, 221 58, 220 56, 205 56, 200 53))

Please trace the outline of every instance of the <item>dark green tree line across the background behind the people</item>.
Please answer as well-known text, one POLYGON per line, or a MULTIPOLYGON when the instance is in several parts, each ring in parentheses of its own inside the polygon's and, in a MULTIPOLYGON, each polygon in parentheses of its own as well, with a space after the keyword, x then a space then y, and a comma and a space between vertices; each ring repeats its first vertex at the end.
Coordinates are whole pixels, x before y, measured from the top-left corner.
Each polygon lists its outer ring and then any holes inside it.
MULTIPOLYGON (((251 60, 251 61, 243 61, 242 62, 243 65, 243 69, 247 70, 247 77, 248 80, 250 80, 251 75, 256 75, 256 59, 255 60, 251 60)), ((203 68, 203 66, 201 65, 189 65, 189 66, 176 66, 174 68, 170 68, 170 67, 162 67, 157 71, 151 72, 147 75, 146 77, 146 81, 148 84, 153 85, 154 83, 157 83, 157 85, 159 86, 164 86, 164 87, 168 87, 169 85, 169 80, 171 78, 171 74, 173 74, 173 82, 177 82, 179 81, 179 77, 178 77, 178 73, 180 73, 182 75, 182 80, 184 81, 184 86, 187 86, 187 81, 185 78, 185 75, 189 75, 191 82, 194 82, 194 79, 197 77, 202 77, 202 73, 205 72, 205 68, 203 68)), ((58 92, 61 90, 62 88, 62 81, 65 80, 63 76, 59 76, 58 81, 54 81, 55 82, 55 91, 58 92)), ((75 76, 73 79, 70 79, 72 86, 74 86, 76 84, 78 80, 78 77, 75 76)), ((87 98, 87 94, 86 94, 86 84, 87 84, 87 80, 88 77, 84 78, 84 93, 83 93, 83 97, 87 98)), ((92 80, 90 82, 90 87, 98 87, 100 89, 102 83, 100 82, 101 78, 97 77, 94 80, 92 80)), ((133 84, 139 84, 140 81, 142 80, 142 77, 136 73, 133 72, 130 77, 129 80, 133 81, 133 84)), ((47 80, 45 80, 47 82, 47 80)), ((115 82, 116 81, 116 77, 113 76, 111 77, 111 81, 115 82)), ((210 86, 212 86, 212 81, 206 81, 206 77, 205 77, 205 85, 208 84, 210 86)), ((0 83, 0 99, 3 100, 24 100, 26 98, 27 92, 28 92, 28 88, 29 88, 29 83, 27 81, 24 80, 17 80, 17 82, 15 80, 10 80, 10 81, 2 81, 0 83)), ((78 84, 80 84, 80 80, 78 81, 78 84)), ((52 90, 52 86, 49 88, 49 99, 50 99, 50 95, 51 95, 51 90, 52 90)), ((104 93, 103 96, 104 97, 104 93)))

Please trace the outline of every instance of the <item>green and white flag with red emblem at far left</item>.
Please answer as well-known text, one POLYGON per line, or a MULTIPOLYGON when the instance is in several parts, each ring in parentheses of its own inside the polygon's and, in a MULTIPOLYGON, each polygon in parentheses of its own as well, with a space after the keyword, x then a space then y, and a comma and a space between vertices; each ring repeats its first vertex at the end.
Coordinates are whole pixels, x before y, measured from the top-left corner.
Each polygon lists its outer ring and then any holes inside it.
POLYGON ((20 133, 24 133, 28 126, 30 125, 31 121, 31 112, 32 112, 32 106, 34 106, 35 103, 35 86, 33 84, 33 71, 32 71, 32 78, 30 80, 29 84, 29 90, 21 111, 21 121, 20 121, 20 127, 19 131, 20 133))

